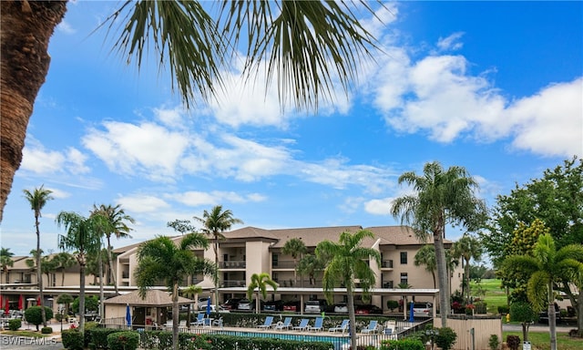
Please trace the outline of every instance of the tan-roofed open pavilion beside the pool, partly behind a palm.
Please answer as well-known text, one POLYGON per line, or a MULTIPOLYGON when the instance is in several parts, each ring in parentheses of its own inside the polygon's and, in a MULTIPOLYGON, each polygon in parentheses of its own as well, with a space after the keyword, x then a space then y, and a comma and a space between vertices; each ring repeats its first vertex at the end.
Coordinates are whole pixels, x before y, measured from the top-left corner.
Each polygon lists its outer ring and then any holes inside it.
MULTIPOLYGON (((179 296, 179 304, 192 304, 192 300, 179 296)), ((131 310, 132 325, 156 326, 165 324, 169 318, 168 308, 172 306, 172 296, 165 291, 148 289, 142 299, 138 291, 114 296, 104 302, 106 323, 112 319, 126 319, 128 306, 131 310)))

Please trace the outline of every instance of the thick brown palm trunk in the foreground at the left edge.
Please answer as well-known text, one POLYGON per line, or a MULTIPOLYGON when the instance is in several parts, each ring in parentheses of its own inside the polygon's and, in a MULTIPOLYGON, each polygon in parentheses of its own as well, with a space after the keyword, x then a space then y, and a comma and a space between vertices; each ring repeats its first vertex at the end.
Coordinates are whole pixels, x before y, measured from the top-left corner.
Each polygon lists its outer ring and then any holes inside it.
POLYGON ((0 33, 0 221, 20 167, 28 119, 50 64, 47 48, 66 1, 2 1, 0 33))

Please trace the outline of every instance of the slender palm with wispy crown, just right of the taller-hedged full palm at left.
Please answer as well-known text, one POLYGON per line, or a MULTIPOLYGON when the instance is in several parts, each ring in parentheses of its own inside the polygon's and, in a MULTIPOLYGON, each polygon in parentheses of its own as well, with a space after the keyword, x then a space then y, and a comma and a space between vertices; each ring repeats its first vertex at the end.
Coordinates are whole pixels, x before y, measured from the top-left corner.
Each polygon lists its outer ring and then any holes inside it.
POLYGON ((101 204, 98 207, 94 204, 92 215, 100 213, 107 218, 109 221, 109 229, 104 230, 103 235, 107 240, 107 281, 109 278, 113 280, 113 285, 116 290, 116 295, 118 294, 118 282, 116 272, 113 271, 113 253, 111 252, 111 235, 115 234, 117 239, 120 238, 131 238, 129 232, 132 230, 128 227, 126 221, 130 223, 136 223, 134 218, 126 214, 126 211, 121 209, 121 204, 112 207, 111 205, 101 204))

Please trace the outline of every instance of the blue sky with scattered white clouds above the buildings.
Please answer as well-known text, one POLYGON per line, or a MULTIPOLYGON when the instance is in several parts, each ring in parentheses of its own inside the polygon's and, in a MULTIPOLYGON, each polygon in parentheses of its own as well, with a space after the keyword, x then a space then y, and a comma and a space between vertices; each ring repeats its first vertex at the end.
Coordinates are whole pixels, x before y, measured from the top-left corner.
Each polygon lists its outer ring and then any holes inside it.
MULTIPOLYGON (((581 2, 387 3, 362 14, 384 53, 348 98, 281 113, 274 90, 240 88, 187 111, 169 77, 138 74, 91 32, 117 2, 69 3, 30 120, 2 222, 2 246, 36 246, 22 196, 53 190, 41 245, 57 251, 59 211, 121 204, 142 242, 216 204, 265 229, 394 225, 404 171, 463 166, 489 206, 516 183, 583 156, 581 2)), ((449 230, 448 239, 460 232, 449 230)))

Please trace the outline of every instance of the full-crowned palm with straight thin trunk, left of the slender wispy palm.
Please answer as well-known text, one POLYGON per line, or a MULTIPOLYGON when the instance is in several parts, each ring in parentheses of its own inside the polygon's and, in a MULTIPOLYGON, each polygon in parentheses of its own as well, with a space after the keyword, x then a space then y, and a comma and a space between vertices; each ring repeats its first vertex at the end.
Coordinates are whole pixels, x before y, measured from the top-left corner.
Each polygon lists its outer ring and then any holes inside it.
POLYGON ((85 268, 87 254, 95 254, 101 248, 99 227, 107 224, 101 215, 86 218, 77 212, 61 211, 56 215, 56 226, 64 227, 65 235, 58 236, 58 246, 73 252, 79 263, 79 330, 85 330, 85 268))

